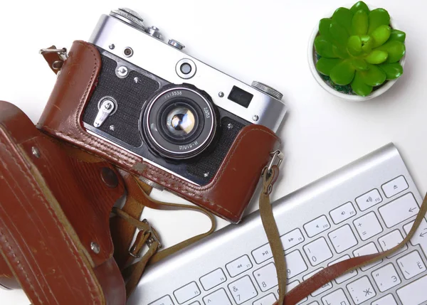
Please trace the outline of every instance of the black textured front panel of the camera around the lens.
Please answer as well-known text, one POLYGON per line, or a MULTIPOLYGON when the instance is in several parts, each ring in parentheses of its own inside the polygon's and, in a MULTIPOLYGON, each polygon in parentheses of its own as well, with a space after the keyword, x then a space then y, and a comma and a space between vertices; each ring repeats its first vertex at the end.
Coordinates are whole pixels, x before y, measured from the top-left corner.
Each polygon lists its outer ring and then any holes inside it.
POLYGON ((97 86, 83 112, 85 128, 176 176, 200 186, 209 183, 221 166, 238 132, 251 123, 220 107, 215 107, 218 126, 209 146, 201 154, 190 159, 165 158, 147 143, 141 118, 147 101, 159 90, 172 84, 112 55, 107 50, 98 49, 102 58, 102 69, 97 86), (116 73, 117 68, 122 65, 128 69, 125 77, 119 77, 116 73), (100 102, 105 98, 115 102, 115 110, 100 127, 94 127, 100 102))

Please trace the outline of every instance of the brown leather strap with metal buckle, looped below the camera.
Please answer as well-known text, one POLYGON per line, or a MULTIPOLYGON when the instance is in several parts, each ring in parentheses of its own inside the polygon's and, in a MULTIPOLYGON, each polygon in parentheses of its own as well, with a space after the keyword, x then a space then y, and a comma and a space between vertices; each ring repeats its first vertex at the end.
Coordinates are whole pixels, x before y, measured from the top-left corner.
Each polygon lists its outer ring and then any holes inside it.
MULTIPOLYGON (((61 146, 67 154, 80 161, 88 163, 101 161, 99 157, 88 154, 86 151, 82 151, 75 146, 66 143, 61 143, 61 146)), ((110 219, 110 232, 115 246, 114 257, 120 270, 122 270, 123 277, 127 279, 126 292, 127 296, 130 296, 137 286, 139 279, 141 279, 147 264, 159 262, 184 247, 210 235, 216 228, 216 220, 212 213, 196 205, 165 203, 154 200, 149 197, 149 193, 152 191, 151 186, 148 186, 127 171, 123 171, 120 168, 117 168, 117 171, 125 182, 127 194, 125 205, 121 209, 113 208, 112 210, 118 217, 110 219), (162 245, 159 242, 156 230, 146 220, 140 220, 144 207, 156 210, 195 210, 208 216, 211 220, 211 228, 205 233, 158 251, 162 245), (139 230, 136 238, 135 230, 139 230), (148 250, 144 255, 140 256, 139 254, 145 245, 148 245, 148 250), (135 260, 137 260, 136 263, 134 263, 135 260)))

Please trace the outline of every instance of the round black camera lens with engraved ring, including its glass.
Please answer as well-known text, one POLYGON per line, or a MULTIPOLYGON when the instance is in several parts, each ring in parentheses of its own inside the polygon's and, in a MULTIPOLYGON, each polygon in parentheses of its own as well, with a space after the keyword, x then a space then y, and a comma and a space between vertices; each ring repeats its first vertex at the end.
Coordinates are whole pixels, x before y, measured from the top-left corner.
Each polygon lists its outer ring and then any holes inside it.
POLYGON ((216 119, 206 92, 193 85, 168 85, 142 109, 142 134, 157 154, 190 159, 211 144, 216 119))

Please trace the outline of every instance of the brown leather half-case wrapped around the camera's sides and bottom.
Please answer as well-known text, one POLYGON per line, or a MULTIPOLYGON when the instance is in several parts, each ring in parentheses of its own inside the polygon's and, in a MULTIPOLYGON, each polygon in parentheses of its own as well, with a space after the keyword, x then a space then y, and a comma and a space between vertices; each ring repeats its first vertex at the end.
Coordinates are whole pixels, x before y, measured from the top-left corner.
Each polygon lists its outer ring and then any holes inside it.
POLYGON ((82 115, 96 86, 100 69, 100 54, 95 46, 75 41, 38 128, 238 223, 253 196, 262 168, 270 160, 270 151, 278 146, 278 137, 260 125, 244 127, 211 183, 196 186, 85 132, 82 115))

